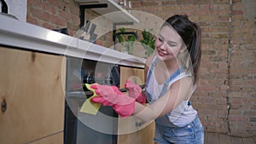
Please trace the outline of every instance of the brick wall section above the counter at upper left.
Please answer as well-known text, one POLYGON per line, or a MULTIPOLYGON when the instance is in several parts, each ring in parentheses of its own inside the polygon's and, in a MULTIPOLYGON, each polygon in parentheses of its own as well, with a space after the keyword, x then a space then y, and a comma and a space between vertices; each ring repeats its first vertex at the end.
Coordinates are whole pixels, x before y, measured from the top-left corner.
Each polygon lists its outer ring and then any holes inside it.
POLYGON ((27 22, 48 29, 68 28, 74 35, 79 29, 79 4, 73 0, 27 0, 27 22))

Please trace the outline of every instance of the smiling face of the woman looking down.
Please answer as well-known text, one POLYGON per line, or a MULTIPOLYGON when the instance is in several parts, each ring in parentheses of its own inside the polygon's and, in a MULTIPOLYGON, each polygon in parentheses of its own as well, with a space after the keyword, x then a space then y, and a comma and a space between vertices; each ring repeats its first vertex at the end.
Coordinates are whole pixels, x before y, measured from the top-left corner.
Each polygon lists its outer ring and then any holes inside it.
POLYGON ((182 49, 183 40, 171 26, 163 26, 154 44, 161 60, 173 60, 182 49))

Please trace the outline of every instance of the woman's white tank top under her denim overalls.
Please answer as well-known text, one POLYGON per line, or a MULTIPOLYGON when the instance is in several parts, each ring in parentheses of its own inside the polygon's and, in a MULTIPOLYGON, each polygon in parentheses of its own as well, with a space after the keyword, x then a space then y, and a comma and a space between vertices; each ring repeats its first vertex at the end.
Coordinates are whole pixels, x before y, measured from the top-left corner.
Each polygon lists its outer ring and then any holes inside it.
MULTIPOLYGON (((148 71, 148 78, 146 82, 146 96, 149 104, 157 101, 160 96, 164 95, 170 86, 177 80, 184 77, 191 77, 191 74, 186 72, 181 72, 177 70, 168 78, 165 84, 158 84, 154 78, 154 67, 157 62, 157 57, 154 58, 153 64, 150 66, 148 71), (151 72, 151 73, 150 73, 151 72)), ((168 112, 165 116, 155 119, 156 124, 169 127, 182 127, 186 124, 189 124, 196 116, 197 112, 191 106, 189 100, 182 101, 175 109, 171 112, 168 112)))

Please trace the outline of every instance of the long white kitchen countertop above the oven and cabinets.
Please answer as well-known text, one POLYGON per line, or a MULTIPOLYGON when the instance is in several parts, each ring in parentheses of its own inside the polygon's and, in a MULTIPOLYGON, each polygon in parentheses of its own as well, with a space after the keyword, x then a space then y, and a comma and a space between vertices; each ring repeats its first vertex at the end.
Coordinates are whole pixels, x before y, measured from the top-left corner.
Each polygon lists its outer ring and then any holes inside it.
POLYGON ((55 55, 144 67, 145 59, 0 14, 0 44, 55 55))

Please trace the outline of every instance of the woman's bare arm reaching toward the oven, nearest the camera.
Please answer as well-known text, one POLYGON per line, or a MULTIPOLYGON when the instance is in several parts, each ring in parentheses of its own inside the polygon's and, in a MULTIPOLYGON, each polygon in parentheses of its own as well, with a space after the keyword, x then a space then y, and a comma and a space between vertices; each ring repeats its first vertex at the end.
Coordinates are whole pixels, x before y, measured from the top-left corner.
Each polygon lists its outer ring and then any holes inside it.
POLYGON ((192 85, 192 78, 181 78, 171 85, 165 95, 148 107, 136 102, 133 114, 145 122, 164 116, 189 98, 192 85))

